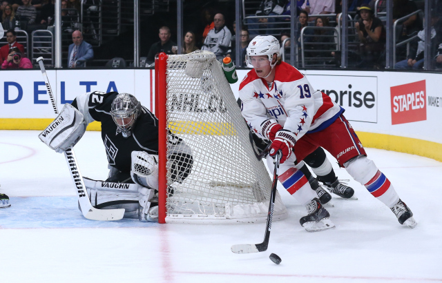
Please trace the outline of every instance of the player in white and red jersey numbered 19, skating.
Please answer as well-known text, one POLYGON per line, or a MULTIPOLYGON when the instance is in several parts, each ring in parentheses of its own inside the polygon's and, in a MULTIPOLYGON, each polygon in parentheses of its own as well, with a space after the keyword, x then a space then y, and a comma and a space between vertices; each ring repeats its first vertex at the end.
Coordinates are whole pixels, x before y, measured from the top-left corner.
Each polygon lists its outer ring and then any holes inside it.
MULTIPOLYGON (((272 36, 255 37, 247 48, 253 70, 240 84, 242 116, 263 139, 270 140, 274 156, 282 151, 280 182, 308 215, 300 219, 307 231, 330 226, 329 213, 300 171, 302 160, 318 146, 332 153, 349 175, 388 206, 400 224, 416 226, 413 213, 401 201, 390 180, 376 167, 343 116, 344 109, 316 91, 296 68, 282 62, 279 42, 272 36), (314 227, 314 228, 311 228, 314 227)), ((270 162, 269 167, 273 167, 270 162)))

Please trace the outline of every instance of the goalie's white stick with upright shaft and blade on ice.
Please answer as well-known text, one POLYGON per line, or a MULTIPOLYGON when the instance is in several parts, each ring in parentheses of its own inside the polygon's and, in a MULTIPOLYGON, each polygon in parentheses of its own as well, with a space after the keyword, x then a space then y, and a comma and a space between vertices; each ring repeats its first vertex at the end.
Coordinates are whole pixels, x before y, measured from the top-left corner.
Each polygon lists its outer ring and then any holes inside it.
MULTIPOLYGON (((43 57, 37 58, 37 63, 40 66, 41 75, 43 75, 44 81, 46 83, 46 88, 48 89, 48 94, 50 97, 50 103, 54 109, 55 115, 58 115, 57 104, 55 104, 55 98, 52 94, 52 88, 49 84, 48 75, 46 75, 46 69, 43 65, 43 57)), ((119 220, 123 218, 124 208, 122 209, 97 209, 90 204, 88 193, 86 192, 86 186, 84 186, 83 177, 81 177, 80 170, 77 166, 77 158, 75 157, 74 149, 72 147, 64 151, 64 157, 66 162, 68 162, 70 177, 72 177, 75 187, 77 188, 78 202, 81 208, 81 213, 84 217, 91 220, 102 220, 111 221, 119 220)))

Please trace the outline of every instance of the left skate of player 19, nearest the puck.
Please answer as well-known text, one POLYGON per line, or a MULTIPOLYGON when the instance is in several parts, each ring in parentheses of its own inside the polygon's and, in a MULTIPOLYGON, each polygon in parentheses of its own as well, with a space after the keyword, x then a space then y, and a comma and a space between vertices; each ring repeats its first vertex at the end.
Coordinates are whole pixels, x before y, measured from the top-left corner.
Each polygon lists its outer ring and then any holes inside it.
POLYGON ((299 222, 308 232, 318 232, 335 227, 332 220, 329 219, 329 212, 318 198, 311 199, 311 202, 305 208, 307 208, 309 214, 301 217, 299 222))

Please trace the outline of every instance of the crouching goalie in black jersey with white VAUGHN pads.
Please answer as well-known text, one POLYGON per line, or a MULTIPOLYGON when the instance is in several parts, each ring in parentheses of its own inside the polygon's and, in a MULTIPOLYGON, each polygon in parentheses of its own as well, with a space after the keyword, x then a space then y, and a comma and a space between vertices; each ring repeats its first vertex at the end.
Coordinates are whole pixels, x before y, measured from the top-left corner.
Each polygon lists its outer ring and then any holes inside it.
MULTIPOLYGON (((106 181, 84 177, 90 203, 99 209, 125 208, 126 218, 155 221, 155 191, 158 189, 157 118, 128 93, 87 92, 77 96, 72 104, 64 106, 52 122, 53 126, 46 128, 56 133, 48 133, 52 138, 42 140, 50 148, 61 152, 77 144, 92 121, 102 123, 102 139, 110 171, 106 181), (64 133, 66 127, 57 129, 57 121, 73 125, 69 135, 64 133)), ((191 149, 171 133, 168 140, 169 182, 181 183, 191 172, 191 149)))

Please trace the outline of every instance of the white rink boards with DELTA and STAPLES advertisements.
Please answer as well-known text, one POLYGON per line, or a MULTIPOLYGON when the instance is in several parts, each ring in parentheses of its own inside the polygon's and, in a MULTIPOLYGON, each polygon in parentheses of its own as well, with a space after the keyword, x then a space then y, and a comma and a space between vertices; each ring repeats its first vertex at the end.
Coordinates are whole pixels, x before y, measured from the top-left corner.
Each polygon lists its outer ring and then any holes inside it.
MULTIPOLYGON (((249 70, 238 70, 238 87, 249 70)), ((355 130, 413 137, 442 144, 442 74, 301 70, 316 90, 345 108, 355 130)), ((57 105, 81 93, 128 92, 153 111, 154 70, 48 70, 57 105)), ((53 118, 39 70, 0 72, 0 119, 53 118)))

